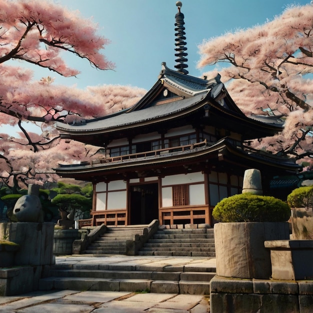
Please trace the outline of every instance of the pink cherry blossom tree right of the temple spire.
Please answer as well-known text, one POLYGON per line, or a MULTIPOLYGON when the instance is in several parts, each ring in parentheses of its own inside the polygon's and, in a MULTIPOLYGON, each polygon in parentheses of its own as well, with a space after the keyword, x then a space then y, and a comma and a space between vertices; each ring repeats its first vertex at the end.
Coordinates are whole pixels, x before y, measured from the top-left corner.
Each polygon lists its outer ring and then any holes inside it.
MULTIPOLYGON (((313 158, 313 5, 292 5, 280 16, 199 45, 198 66, 215 66, 246 114, 285 120, 282 133, 254 142, 298 162, 313 158)), ((253 116, 252 116, 253 117, 253 116)))

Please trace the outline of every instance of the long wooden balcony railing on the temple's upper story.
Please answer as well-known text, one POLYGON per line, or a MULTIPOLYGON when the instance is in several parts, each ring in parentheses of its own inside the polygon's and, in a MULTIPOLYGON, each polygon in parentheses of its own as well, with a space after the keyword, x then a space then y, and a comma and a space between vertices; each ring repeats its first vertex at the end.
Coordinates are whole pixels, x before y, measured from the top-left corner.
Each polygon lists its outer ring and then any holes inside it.
MULTIPOLYGON (((122 160, 126 160, 126 159, 139 158, 139 157, 156 156, 156 155, 170 153, 170 152, 191 150, 191 149, 194 149, 196 147, 206 146, 206 144, 207 144, 207 141, 206 141, 206 139, 204 139, 201 142, 185 144, 185 145, 178 145, 178 146, 168 147, 168 148, 163 148, 163 149, 150 150, 150 151, 131 153, 131 154, 124 154, 124 155, 118 155, 118 156, 103 157, 103 158, 100 158, 99 161, 100 161, 100 163, 105 163, 105 162, 122 161, 122 160)), ((93 161, 92 163, 93 164, 98 163, 99 161, 93 161)))

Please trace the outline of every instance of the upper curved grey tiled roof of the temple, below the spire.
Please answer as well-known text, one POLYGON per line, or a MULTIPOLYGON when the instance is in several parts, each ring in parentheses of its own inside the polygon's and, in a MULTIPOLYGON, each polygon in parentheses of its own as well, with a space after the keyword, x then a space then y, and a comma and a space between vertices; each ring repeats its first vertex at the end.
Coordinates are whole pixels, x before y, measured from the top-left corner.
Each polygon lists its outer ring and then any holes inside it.
POLYGON ((245 116, 219 75, 202 79, 171 70, 165 63, 156 83, 132 107, 79 123, 58 122, 56 127, 63 138, 101 146, 107 140, 169 129, 192 119, 241 133, 243 139, 269 136, 282 130, 278 118, 265 122, 265 118, 245 116))

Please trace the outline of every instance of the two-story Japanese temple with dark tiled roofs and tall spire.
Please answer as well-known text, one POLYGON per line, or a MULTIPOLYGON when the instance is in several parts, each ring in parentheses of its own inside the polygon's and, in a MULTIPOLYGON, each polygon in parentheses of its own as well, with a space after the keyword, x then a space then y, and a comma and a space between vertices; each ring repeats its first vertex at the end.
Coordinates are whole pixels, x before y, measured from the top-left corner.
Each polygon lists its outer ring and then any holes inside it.
POLYGON ((175 15, 176 70, 165 62, 149 91, 132 107, 79 124, 57 123, 61 137, 103 147, 105 155, 59 164, 56 173, 93 183, 91 224, 213 224, 212 209, 240 193, 245 169, 273 176, 299 166, 248 145, 283 128, 277 117, 248 117, 217 75, 188 75, 183 14, 175 15))

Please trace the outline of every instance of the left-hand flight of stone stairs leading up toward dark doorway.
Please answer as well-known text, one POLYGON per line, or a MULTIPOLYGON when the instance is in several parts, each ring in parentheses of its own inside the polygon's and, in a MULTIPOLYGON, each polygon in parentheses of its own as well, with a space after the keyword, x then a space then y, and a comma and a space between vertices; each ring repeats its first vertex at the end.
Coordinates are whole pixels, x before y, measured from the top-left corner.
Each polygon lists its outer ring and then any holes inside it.
POLYGON ((143 233, 143 226, 110 227, 86 247, 81 254, 126 254, 126 241, 143 233))

